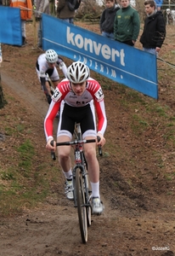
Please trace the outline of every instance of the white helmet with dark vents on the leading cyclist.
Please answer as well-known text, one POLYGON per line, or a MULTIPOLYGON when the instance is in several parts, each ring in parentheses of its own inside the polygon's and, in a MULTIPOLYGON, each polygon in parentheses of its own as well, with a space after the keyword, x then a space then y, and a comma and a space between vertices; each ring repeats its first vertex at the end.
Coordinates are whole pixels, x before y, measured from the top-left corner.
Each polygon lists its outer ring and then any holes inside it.
POLYGON ((81 61, 73 62, 67 69, 67 79, 74 84, 79 84, 86 81, 89 75, 90 71, 88 66, 81 61))

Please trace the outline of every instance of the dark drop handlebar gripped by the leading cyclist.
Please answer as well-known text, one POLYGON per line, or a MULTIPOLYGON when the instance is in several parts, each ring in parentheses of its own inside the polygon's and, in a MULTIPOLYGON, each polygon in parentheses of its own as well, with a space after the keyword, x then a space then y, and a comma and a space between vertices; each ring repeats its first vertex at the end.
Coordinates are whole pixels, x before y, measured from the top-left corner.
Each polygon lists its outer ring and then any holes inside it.
MULTIPOLYGON (((98 142, 100 141, 100 137, 97 137, 98 142)), ((64 142, 64 143, 56 143, 56 146, 71 146, 71 145, 76 145, 76 144, 85 144, 85 143, 96 143, 95 139, 90 139, 90 140, 75 140, 73 142, 64 142)), ((50 142, 51 146, 54 147, 54 140, 50 142)), ((99 145, 99 155, 102 156, 102 148, 101 145, 99 145)), ((51 150, 51 156, 53 160, 56 160, 56 156, 54 153, 54 150, 51 150)))

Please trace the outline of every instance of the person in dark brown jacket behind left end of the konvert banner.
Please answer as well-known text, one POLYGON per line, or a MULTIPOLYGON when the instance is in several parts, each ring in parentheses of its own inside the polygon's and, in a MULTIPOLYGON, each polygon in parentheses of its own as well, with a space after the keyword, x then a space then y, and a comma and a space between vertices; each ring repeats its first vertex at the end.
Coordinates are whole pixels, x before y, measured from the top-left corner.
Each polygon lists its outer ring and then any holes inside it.
POLYGON ((82 0, 59 0, 57 5, 57 17, 73 24, 76 9, 79 8, 81 1, 82 0))

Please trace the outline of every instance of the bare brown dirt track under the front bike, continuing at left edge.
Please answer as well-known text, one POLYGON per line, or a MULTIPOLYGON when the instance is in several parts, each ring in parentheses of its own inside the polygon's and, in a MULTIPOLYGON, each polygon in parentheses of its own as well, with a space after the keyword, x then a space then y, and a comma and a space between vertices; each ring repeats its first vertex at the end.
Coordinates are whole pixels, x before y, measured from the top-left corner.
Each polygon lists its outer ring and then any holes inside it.
MULTIPOLYGON (((11 79, 2 71, 3 83, 30 104, 37 115, 43 118, 48 105, 38 94, 11 79)), ((54 256, 54 255, 169 255, 172 256, 175 237, 174 214, 166 210, 146 212, 142 209, 126 211, 127 201, 122 196, 123 206, 111 209, 109 193, 101 182, 101 195, 105 210, 100 217, 93 216, 88 230, 88 244, 83 245, 76 209, 63 196, 59 201, 48 199, 45 205, 33 211, 25 210, 23 216, 0 220, 1 256, 54 256), (108 201, 109 200, 109 201, 108 201), (118 208, 115 210, 115 208, 118 208), (160 249, 161 247, 161 249, 160 249)), ((116 199, 114 198, 114 201, 116 199)), ((156 209, 155 209, 156 210, 156 209)))

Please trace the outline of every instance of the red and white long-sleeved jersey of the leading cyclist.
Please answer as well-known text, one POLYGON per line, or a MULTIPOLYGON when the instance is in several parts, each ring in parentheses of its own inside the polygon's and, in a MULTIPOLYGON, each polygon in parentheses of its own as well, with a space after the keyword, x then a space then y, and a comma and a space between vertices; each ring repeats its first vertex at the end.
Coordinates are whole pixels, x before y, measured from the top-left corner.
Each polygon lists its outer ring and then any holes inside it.
POLYGON ((71 90, 70 81, 64 79, 57 85, 44 122, 47 141, 49 137, 53 136, 54 117, 59 111, 62 101, 65 101, 66 104, 74 108, 81 108, 93 102, 98 116, 98 132, 104 135, 107 119, 104 108, 104 93, 100 84, 96 80, 89 78, 86 84, 86 90, 84 90, 81 96, 76 96, 73 90, 71 90))

